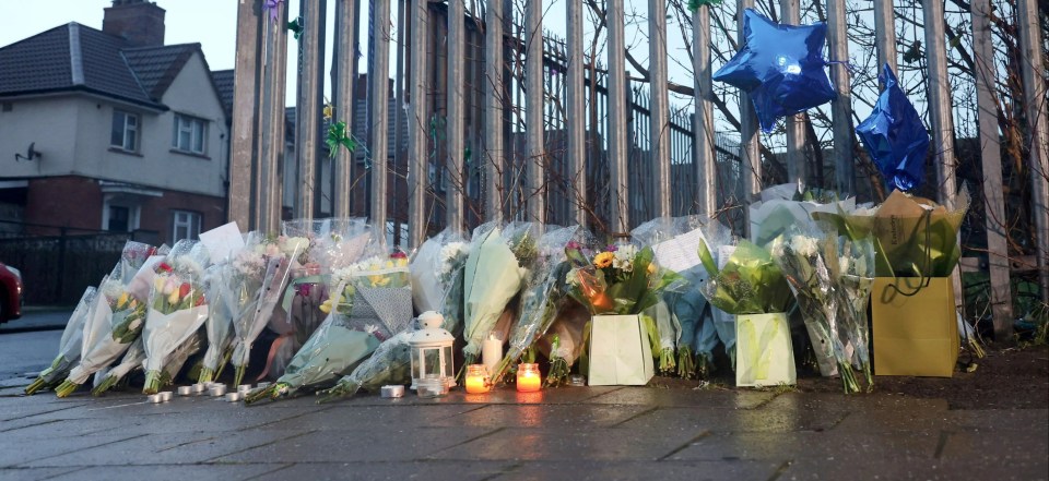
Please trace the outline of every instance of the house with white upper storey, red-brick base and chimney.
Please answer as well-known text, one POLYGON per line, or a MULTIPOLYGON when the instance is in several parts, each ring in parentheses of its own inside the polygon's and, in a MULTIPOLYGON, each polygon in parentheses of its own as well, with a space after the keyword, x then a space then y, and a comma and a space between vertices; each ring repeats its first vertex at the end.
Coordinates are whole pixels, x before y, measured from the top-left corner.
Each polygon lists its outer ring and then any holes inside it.
POLYGON ((229 111, 200 44, 164 45, 164 10, 116 0, 0 48, 0 235, 196 238, 226 221, 229 111))

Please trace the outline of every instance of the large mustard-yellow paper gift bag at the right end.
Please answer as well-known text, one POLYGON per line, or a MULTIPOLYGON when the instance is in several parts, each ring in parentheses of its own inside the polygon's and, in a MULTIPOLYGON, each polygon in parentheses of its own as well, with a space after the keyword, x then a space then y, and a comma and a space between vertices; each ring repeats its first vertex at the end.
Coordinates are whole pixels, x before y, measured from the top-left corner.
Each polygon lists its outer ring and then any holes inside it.
POLYGON ((950 277, 876 277, 871 291, 871 323, 874 374, 954 374, 959 341, 950 277), (923 280, 929 284, 922 286, 923 280))

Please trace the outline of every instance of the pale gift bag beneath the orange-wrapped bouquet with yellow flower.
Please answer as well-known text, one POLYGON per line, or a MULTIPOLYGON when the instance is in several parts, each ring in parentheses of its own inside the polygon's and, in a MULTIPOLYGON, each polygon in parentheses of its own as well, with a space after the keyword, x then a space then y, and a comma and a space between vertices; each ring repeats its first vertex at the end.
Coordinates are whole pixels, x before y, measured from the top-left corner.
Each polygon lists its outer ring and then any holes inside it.
POLYGON ((652 348, 640 316, 593 316, 590 323, 589 385, 644 386, 653 373, 652 348))

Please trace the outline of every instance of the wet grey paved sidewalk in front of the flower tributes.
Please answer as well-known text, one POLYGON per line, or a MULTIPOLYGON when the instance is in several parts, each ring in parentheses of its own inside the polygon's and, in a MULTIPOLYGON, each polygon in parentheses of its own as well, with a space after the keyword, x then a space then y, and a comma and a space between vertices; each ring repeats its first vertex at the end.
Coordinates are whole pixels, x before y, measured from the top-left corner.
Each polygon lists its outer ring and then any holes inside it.
POLYGON ((0 389, 5 480, 1049 478, 1049 410, 887 393, 565 387, 245 407, 19 392, 0 389))

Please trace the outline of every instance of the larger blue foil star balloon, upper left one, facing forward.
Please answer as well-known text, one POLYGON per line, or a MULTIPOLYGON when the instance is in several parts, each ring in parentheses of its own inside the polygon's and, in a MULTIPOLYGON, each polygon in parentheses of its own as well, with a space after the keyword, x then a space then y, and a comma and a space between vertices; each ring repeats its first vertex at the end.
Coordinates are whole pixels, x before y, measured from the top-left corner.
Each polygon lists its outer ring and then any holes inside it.
POLYGON ((776 119, 803 112, 837 97, 823 59, 827 25, 780 25, 752 9, 743 13, 746 44, 714 80, 751 95, 762 130, 776 119))

